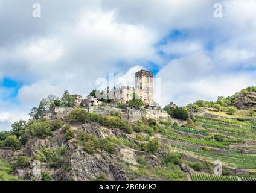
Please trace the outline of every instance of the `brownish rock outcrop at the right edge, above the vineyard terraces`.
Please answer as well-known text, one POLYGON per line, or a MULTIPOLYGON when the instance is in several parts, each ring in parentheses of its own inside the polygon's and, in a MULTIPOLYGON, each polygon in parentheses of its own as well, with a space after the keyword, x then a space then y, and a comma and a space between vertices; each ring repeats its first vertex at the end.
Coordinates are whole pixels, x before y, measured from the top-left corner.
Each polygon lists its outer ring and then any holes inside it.
POLYGON ((237 109, 250 109, 256 106, 256 92, 248 92, 237 96, 234 103, 237 109))

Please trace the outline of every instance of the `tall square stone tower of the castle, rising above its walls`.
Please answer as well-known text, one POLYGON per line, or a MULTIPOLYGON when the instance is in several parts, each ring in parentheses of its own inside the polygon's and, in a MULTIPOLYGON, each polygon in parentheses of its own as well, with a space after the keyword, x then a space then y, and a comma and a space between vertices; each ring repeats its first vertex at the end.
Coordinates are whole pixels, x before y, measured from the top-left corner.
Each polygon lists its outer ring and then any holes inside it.
POLYGON ((135 92, 144 101, 144 104, 154 104, 153 72, 144 70, 136 72, 135 92))

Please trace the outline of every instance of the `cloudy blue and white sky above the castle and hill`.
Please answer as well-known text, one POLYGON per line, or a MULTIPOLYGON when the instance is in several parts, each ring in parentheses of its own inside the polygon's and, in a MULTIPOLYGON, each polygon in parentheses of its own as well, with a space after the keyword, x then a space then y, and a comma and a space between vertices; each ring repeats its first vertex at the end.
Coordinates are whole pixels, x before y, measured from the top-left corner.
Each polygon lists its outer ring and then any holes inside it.
POLYGON ((109 73, 153 71, 161 106, 255 85, 256 0, 218 3, 221 17, 212 0, 0 0, 0 131, 50 93, 87 96, 109 73))

